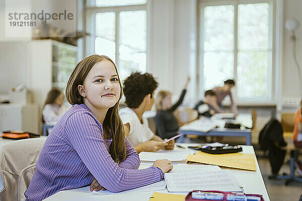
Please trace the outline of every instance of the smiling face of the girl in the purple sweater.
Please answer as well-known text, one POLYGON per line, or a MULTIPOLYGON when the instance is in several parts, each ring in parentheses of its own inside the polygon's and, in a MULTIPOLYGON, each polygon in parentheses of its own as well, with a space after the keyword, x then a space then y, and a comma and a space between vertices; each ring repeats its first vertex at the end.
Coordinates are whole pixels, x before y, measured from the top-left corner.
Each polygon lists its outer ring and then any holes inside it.
POLYGON ((84 80, 83 86, 78 86, 84 97, 85 105, 95 109, 109 109, 119 100, 121 87, 117 72, 111 61, 103 60, 95 64, 84 80))

